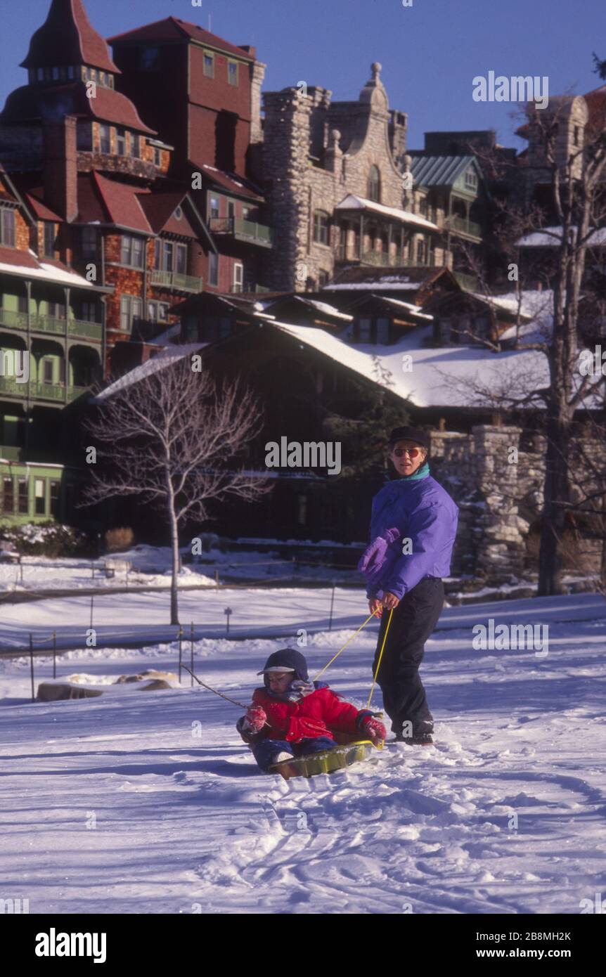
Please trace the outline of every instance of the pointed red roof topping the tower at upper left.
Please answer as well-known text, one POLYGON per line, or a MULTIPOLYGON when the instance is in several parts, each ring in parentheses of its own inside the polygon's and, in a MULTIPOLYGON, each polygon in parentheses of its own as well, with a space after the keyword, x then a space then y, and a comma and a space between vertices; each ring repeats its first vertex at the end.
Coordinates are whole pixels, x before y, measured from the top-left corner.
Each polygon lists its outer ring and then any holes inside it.
POLYGON ((48 17, 29 42, 22 67, 87 64, 120 74, 108 45, 91 25, 82 0, 53 0, 48 17))

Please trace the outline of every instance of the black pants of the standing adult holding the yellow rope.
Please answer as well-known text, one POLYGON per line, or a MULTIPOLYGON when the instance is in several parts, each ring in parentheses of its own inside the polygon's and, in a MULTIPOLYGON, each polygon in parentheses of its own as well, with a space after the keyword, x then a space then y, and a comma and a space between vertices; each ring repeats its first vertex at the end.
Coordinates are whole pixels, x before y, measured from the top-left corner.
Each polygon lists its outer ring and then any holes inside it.
MULTIPOLYGON (((391 719, 392 732, 431 733, 433 716, 429 711, 418 666, 423 660, 425 642, 438 622, 444 606, 444 584, 435 576, 420 580, 404 595, 391 616, 391 625, 381 658, 377 683, 383 693, 383 705, 391 719)), ((376 668, 389 611, 383 608, 379 638, 372 662, 376 668)))

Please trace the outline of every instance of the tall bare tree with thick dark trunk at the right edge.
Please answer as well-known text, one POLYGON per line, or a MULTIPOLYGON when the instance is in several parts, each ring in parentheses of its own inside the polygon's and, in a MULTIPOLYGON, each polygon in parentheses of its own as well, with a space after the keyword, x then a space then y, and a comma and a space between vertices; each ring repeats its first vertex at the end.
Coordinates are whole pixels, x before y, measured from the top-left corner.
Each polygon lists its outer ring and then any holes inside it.
MULTIPOLYGON (((595 59, 598 67, 600 63, 595 59)), ((568 118, 566 100, 554 100, 555 108, 538 110, 534 103, 527 109, 528 129, 535 147, 541 153, 541 168, 550 187, 550 206, 557 231, 551 233, 550 268, 543 268, 552 290, 552 329, 540 342, 521 338, 521 293, 516 319, 516 349, 540 350, 548 366, 548 382, 535 385, 525 395, 541 399, 544 405, 545 480, 541 512, 541 552, 539 594, 562 592, 563 538, 566 514, 574 505, 571 499, 571 441, 577 411, 587 398, 595 400, 595 377, 581 376, 579 371, 580 302, 586 283, 585 261, 599 244, 599 229, 606 223, 606 115, 592 106, 584 125, 584 139, 572 148, 567 143, 568 118), (562 147, 566 151, 562 153, 562 147)), ((487 164, 487 160, 483 162, 487 164)), ((498 162, 494 164, 498 169, 498 162)), ((540 213, 534 205, 520 208, 512 200, 500 207, 501 235, 499 250, 502 261, 515 259, 515 248, 523 234, 538 230, 540 213), (508 242, 507 242, 508 241, 508 242)), ((543 229, 544 230, 544 229, 543 229)), ((516 262, 519 265, 519 260, 516 262)), ((471 271, 482 272, 477 267, 471 271)), ((535 270, 536 271, 536 270, 535 270)), ((482 280, 482 279, 481 279, 482 280)), ((490 289, 483 286, 486 294, 490 289)), ((477 337, 476 337, 477 338, 477 337)), ((600 378, 598 378, 599 380, 600 378)), ((513 404, 522 405, 523 401, 513 404)))

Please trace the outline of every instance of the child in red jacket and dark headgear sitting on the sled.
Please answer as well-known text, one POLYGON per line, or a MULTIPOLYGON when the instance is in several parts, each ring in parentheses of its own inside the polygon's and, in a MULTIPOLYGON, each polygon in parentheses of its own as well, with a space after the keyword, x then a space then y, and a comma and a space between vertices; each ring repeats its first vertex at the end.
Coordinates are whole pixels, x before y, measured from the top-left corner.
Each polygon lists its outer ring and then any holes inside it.
POLYGON ((325 682, 310 682, 305 656, 293 648, 274 652, 257 675, 265 688, 255 689, 236 728, 264 772, 282 760, 332 749, 334 733, 385 740, 385 727, 371 712, 341 701, 325 682))

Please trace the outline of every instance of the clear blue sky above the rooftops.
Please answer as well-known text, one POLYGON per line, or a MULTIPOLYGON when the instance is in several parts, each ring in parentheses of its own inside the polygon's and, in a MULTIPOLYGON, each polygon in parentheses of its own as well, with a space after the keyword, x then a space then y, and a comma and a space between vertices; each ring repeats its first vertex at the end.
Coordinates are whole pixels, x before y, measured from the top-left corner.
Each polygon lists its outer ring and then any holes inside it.
MULTIPOLYGON (((546 75, 549 93, 583 94, 602 84, 591 52, 606 59, 606 0, 85 0, 105 36, 164 17, 253 44, 268 65, 265 90, 306 81, 356 99, 379 61, 390 106, 409 115, 409 148, 434 129, 495 128, 523 149, 507 103, 472 100, 474 75, 546 75)), ((46 20, 50 0, 6 3, 0 35, 0 105, 24 84, 18 64, 46 20)))

